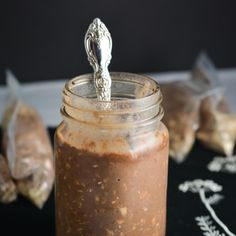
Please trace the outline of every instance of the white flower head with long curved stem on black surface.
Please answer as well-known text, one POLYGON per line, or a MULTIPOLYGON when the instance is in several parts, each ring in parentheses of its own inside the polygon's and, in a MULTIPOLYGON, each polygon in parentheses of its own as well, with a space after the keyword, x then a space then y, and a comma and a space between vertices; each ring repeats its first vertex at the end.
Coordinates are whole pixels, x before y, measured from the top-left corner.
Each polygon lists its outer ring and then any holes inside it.
MULTIPOLYGON (((179 185, 179 190, 182 192, 192 192, 192 193, 198 193, 200 196, 200 199, 208 212, 210 213, 211 217, 214 219, 214 221, 225 231, 225 233, 229 236, 236 236, 233 234, 228 227, 219 219, 219 217, 216 215, 214 209, 212 208, 213 204, 216 204, 219 202, 220 199, 222 199, 222 196, 219 194, 213 194, 209 198, 206 197, 206 192, 220 192, 222 191, 223 187, 217 183, 215 183, 212 180, 201 180, 201 179, 195 179, 193 181, 185 181, 184 183, 179 185)), ((207 235, 207 234, 205 234, 207 235)), ((209 234, 208 234, 209 235, 209 234)))

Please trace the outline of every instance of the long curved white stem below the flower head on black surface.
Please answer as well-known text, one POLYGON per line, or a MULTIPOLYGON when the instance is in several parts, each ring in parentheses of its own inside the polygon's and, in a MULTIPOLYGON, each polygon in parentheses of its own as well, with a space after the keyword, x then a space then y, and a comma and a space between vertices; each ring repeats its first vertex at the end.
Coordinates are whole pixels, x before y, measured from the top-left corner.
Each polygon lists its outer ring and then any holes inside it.
POLYGON ((214 209, 211 207, 211 205, 208 203, 208 201, 206 199, 204 189, 200 189, 199 195, 200 195, 201 201, 203 202, 203 204, 205 205, 206 209, 209 211, 211 217, 215 220, 215 222, 225 231, 226 234, 228 234, 229 236, 236 236, 235 234, 230 232, 228 227, 218 218, 214 209))

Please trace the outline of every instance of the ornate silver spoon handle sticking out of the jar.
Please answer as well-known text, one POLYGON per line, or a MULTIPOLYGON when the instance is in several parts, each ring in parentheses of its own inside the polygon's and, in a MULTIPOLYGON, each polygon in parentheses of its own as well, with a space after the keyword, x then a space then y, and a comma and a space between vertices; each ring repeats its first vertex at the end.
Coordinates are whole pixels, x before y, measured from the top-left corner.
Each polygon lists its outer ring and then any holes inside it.
POLYGON ((111 100, 111 77, 108 65, 111 61, 112 39, 107 27, 98 18, 90 24, 84 38, 88 61, 94 70, 94 84, 99 101, 111 100))

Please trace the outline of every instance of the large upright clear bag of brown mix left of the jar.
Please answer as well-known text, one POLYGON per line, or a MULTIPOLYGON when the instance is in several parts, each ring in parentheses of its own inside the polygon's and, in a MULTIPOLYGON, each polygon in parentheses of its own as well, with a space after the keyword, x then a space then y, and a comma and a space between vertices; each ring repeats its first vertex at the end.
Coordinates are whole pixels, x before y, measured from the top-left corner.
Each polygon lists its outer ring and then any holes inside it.
POLYGON ((3 146, 18 191, 41 208, 54 182, 52 147, 37 111, 16 96, 16 84, 10 76, 11 102, 3 118, 3 146))

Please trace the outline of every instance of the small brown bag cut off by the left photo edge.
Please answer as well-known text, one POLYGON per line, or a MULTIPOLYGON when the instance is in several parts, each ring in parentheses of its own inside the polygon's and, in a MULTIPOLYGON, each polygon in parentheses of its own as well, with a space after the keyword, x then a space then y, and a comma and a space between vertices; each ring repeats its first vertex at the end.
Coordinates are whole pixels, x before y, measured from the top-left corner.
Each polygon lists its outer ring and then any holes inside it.
POLYGON ((0 202, 10 203, 17 198, 17 190, 13 182, 7 162, 0 154, 0 202))

